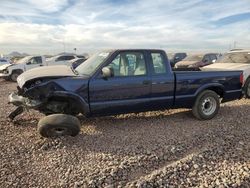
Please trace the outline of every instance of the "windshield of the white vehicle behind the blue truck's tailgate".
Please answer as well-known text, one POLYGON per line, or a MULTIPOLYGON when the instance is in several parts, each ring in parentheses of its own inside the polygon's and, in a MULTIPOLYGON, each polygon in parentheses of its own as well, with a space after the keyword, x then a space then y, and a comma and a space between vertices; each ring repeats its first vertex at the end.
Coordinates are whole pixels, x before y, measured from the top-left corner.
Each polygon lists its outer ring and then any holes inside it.
POLYGON ((245 63, 250 64, 250 52, 228 53, 216 63, 245 63))

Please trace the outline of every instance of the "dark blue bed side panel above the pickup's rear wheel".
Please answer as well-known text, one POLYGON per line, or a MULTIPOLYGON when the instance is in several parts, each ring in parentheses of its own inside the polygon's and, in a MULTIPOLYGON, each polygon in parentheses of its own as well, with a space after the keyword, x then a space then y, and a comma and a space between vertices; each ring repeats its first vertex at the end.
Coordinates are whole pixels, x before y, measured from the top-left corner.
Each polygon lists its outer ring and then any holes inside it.
POLYGON ((175 72, 175 107, 191 108, 196 96, 205 89, 214 90, 223 97, 222 102, 242 96, 240 71, 175 72))

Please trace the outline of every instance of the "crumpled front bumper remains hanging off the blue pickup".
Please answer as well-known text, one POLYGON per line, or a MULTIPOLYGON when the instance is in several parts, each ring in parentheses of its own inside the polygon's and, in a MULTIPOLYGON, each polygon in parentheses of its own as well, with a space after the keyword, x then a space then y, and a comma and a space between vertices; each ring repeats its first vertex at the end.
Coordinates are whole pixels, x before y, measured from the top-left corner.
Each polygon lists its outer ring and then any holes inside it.
POLYGON ((22 114, 25 109, 36 109, 42 104, 41 101, 30 100, 26 97, 16 94, 15 92, 9 95, 9 103, 17 106, 17 108, 8 116, 11 120, 13 120, 16 116, 22 114))

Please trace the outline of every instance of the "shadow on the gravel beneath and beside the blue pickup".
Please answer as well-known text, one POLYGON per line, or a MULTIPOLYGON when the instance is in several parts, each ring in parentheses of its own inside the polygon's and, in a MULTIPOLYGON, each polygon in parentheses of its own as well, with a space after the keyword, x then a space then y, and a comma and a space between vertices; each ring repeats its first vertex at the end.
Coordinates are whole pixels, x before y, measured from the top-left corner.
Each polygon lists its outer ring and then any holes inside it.
POLYGON ((242 126, 237 124, 249 124, 250 117, 244 116, 249 113, 249 105, 225 105, 215 118, 207 121, 195 119, 187 109, 89 119, 79 116, 81 133, 70 139, 70 142, 69 139, 64 140, 64 144, 70 145, 73 142, 79 148, 97 152, 103 150, 115 153, 119 149, 120 153, 125 154, 127 146, 132 147, 132 150, 151 150, 162 141, 165 145, 171 145, 203 137, 207 133, 238 131, 242 126), (109 144, 108 148, 105 143, 109 144), (92 147, 93 144, 97 147, 92 147))

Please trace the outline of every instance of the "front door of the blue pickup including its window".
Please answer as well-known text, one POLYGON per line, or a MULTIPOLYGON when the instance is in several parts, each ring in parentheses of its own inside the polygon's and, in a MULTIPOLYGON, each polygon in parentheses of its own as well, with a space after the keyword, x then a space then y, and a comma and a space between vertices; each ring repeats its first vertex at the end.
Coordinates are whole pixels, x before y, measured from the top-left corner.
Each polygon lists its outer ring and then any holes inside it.
POLYGON ((108 64, 113 76, 92 78, 89 83, 90 109, 93 114, 117 114, 147 110, 151 80, 145 54, 124 51, 108 64))

